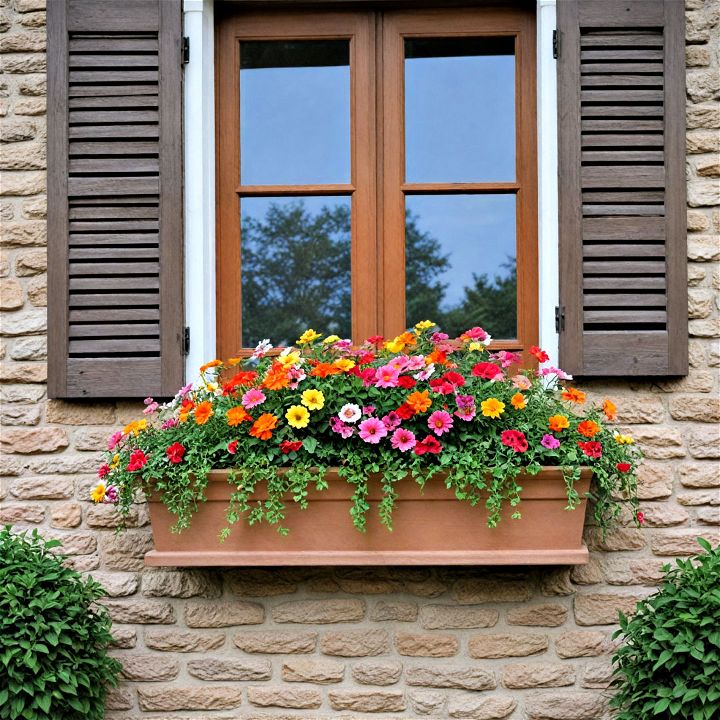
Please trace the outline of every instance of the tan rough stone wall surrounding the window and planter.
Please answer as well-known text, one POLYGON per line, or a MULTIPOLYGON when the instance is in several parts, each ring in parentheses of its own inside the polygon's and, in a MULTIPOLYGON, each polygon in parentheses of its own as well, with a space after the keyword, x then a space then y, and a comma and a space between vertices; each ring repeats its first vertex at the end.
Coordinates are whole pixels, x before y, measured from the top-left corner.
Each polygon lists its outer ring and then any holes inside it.
POLYGON ((144 570, 144 508, 87 500, 137 405, 48 400, 44 0, 0 0, 0 522, 60 538, 109 593, 126 680, 112 718, 605 715, 616 611, 720 519, 720 2, 688 0, 687 378, 592 383, 647 454, 647 525, 575 569, 144 570), (365 715, 373 713, 373 715, 365 715))

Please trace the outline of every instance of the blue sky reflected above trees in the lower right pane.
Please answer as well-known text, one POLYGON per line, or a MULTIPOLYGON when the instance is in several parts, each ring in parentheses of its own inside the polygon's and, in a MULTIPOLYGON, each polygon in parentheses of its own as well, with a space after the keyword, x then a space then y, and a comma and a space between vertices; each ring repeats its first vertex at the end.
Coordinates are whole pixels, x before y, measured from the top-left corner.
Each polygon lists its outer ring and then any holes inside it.
POLYGON ((449 255, 441 280, 448 284, 441 308, 449 310, 473 285, 473 273, 507 275, 502 265, 515 258, 514 195, 409 195, 406 207, 417 226, 449 255))

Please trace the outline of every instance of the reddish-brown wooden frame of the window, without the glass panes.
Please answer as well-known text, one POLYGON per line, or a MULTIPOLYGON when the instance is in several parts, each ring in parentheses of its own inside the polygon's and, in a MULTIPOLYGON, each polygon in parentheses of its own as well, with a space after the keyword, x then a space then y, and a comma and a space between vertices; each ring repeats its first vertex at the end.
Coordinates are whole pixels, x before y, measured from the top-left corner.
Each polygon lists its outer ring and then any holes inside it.
MULTIPOLYGON (((493 349, 527 352, 538 342, 538 229, 535 13, 525 7, 339 11, 228 8, 216 25, 217 351, 242 348, 242 197, 352 198, 352 336, 393 336, 405 327, 405 195, 516 196, 517 337, 493 349), (516 177, 493 183, 405 183, 405 36, 515 39, 516 177), (240 184, 240 63, 243 40, 350 39, 351 181, 342 185, 240 184), (232 58, 232 60, 230 59, 232 58), (388 62, 388 60, 390 60, 388 62)), ((357 6, 356 6, 357 7, 357 6)), ((423 318, 419 318, 423 319, 423 318)), ((241 354, 247 354, 241 349, 241 354)), ((526 354, 525 360, 532 359, 526 354)))

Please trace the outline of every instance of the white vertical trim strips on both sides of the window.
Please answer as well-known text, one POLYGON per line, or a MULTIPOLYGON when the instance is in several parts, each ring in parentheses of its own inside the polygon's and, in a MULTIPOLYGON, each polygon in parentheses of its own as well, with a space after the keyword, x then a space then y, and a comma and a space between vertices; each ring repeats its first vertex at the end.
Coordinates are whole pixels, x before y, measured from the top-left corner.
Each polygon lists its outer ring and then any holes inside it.
MULTIPOLYGON (((537 0, 538 255, 540 346, 557 364, 557 76, 553 30, 557 0, 537 0)), ((190 41, 183 89, 185 147, 185 376, 215 357, 215 68, 213 0, 184 0, 190 41)))

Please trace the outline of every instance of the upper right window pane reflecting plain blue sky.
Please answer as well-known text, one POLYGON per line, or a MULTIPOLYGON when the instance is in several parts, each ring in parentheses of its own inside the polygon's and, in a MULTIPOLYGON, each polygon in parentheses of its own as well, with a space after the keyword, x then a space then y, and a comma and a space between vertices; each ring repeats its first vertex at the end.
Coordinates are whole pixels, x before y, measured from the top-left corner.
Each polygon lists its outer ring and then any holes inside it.
POLYGON ((515 179, 512 38, 405 40, 407 182, 515 179))

